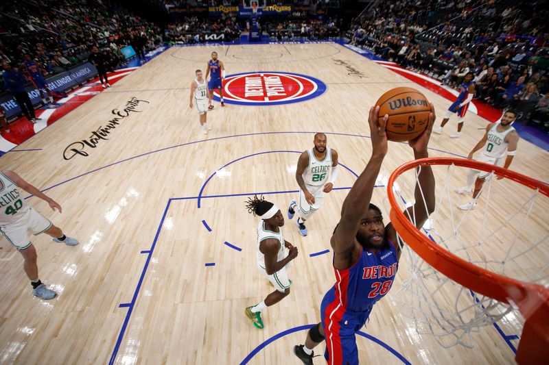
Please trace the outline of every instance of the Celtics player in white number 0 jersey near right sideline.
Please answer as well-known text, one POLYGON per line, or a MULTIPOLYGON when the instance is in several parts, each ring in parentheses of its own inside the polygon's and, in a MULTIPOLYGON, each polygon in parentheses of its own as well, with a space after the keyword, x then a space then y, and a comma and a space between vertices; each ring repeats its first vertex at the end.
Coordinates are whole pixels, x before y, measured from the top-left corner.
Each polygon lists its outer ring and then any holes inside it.
MULTIPOLYGON (((503 168, 509 168, 511 162, 513 162, 515 153, 517 153, 517 144, 519 142, 519 134, 515 128, 511 126, 515 121, 515 118, 517 118, 517 112, 515 112, 515 110, 507 110, 503 113, 501 121, 487 125, 484 136, 478 141, 467 158, 473 160, 474 153, 482 149, 482 155, 478 158, 479 162, 500 166, 503 156, 507 155, 503 168)), ((475 209, 476 198, 480 194, 484 181, 489 181, 491 177, 492 173, 487 173, 486 171, 469 170, 469 173, 467 174, 467 185, 455 190, 458 194, 473 192, 473 200, 469 201, 469 203, 460 205, 459 208, 461 210, 475 209), (474 190, 471 189, 473 183, 475 184, 474 190)), ((502 178, 502 176, 497 177, 498 180, 502 178)))

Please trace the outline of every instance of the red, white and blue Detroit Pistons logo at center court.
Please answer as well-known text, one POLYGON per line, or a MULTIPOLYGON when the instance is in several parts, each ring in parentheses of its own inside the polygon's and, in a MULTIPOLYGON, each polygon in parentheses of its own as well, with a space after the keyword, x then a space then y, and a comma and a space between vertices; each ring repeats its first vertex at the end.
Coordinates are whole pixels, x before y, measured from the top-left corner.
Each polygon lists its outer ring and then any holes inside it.
MULTIPOLYGON (((299 103, 323 95, 326 85, 314 77, 297 73, 255 72, 229 75, 223 83, 225 103, 280 105, 299 103)), ((219 92, 214 90, 219 101, 219 92)))

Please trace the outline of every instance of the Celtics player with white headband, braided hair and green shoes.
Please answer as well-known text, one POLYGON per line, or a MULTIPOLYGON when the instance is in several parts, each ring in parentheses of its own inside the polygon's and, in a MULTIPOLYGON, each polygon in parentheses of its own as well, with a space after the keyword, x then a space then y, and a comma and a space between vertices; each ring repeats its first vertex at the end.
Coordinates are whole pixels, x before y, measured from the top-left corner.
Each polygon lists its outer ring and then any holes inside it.
POLYGON ((270 281, 276 290, 268 294, 264 301, 246 307, 246 316, 253 325, 263 328, 261 311, 288 297, 290 284, 286 267, 290 261, 297 257, 297 247, 284 240, 281 227, 284 225, 284 217, 279 207, 263 196, 248 198, 246 209, 254 216, 260 216, 257 226, 257 266, 263 275, 270 281))

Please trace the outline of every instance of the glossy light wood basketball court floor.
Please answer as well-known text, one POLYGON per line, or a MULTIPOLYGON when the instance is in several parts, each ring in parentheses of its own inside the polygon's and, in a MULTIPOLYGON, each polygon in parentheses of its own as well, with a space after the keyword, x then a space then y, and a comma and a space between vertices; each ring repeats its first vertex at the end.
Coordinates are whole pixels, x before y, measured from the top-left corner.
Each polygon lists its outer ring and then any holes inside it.
MULTIPOLYGON (((334 190, 326 197, 307 223, 309 236, 299 236, 294 221, 286 221, 284 236, 300 250, 289 271, 292 293, 264 312, 263 330, 244 316, 244 307, 272 291, 255 266, 257 218, 248 214, 244 201, 254 192, 278 192, 266 194, 266 199, 286 207, 296 197, 288 191, 298 188, 297 151, 312 147, 316 131, 328 134, 340 163, 360 173, 371 154, 367 111, 396 86, 424 92, 436 105, 439 121, 451 103, 335 44, 171 48, 19 147, 42 151, 3 156, 2 169, 49 188, 47 194, 62 205, 62 214, 34 197, 30 203, 81 243, 65 247, 45 235, 34 238, 40 278, 59 292, 56 299, 42 301, 32 297, 19 253, 1 241, 0 362, 240 364, 272 336, 317 323, 320 301, 334 284, 334 273, 331 253, 309 255, 329 249, 348 190, 334 190), (208 113, 213 130, 203 136, 196 110, 188 108, 189 84, 211 51, 219 53, 229 75, 302 73, 323 80, 327 92, 303 103, 269 107, 220 108, 216 103, 208 113), (363 76, 349 75, 345 64, 363 76), (126 108, 134 97, 148 103, 141 101, 135 108, 140 112, 130 112, 110 129, 108 140, 85 147, 88 156, 63 158, 69 144, 89 139, 113 118, 111 110, 126 108), (209 263, 215 266, 205 266, 209 263)), ((467 155, 487 125, 469 113, 463 138, 452 140, 454 123, 442 136, 432 136, 432 156, 467 155)), ((386 176, 412 158, 406 144, 390 143, 389 149, 382 168, 386 176)), ((513 169, 548 181, 549 153, 525 140, 518 150, 513 169)), ((465 174, 456 175, 452 188, 465 181, 465 174)), ((349 187, 354 179, 343 170, 336 187, 349 187)), ((442 173, 437 179, 443 179, 442 173)), ((504 181, 500 187, 505 203, 524 200, 526 193, 515 193, 504 181)), ((373 200, 388 216, 385 197, 384 188, 375 189, 373 200)), ((454 194, 453 199, 465 203, 468 197, 454 194)), ((549 204, 543 199, 539 204, 540 218, 533 229, 546 234, 549 204)), ((443 217, 444 209, 448 207, 441 208, 443 217)), ((494 212, 500 219, 498 210, 494 212)), ((465 229, 479 225, 478 219, 466 224, 465 229)), ((540 252, 547 257, 547 247, 540 252)), ((522 264, 527 268, 530 263, 522 264)), ((417 334, 412 321, 400 314, 396 295, 407 272, 404 267, 397 275, 393 290, 375 306, 364 328, 377 342, 358 338, 361 363, 401 362, 379 341, 412 364, 514 362, 513 351, 493 326, 474 334, 474 349, 443 349, 430 336, 417 334)), ((514 314, 500 325, 506 335, 520 333, 520 319, 514 314)), ((279 336, 249 363, 299 364, 292 346, 302 343, 305 333, 279 336)), ((517 346, 517 340, 511 342, 517 346)), ((322 364, 322 358, 316 357, 315 363, 322 364)))

